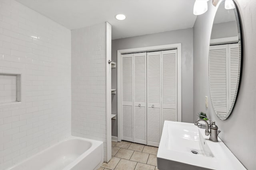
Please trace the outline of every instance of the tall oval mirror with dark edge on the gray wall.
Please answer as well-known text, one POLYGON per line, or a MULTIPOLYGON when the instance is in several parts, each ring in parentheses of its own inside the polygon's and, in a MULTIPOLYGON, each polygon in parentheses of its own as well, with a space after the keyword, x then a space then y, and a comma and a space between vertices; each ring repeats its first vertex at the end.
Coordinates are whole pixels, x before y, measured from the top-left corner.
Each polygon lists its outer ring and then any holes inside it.
POLYGON ((214 111, 225 120, 232 113, 240 84, 241 33, 238 11, 233 0, 218 6, 209 48, 209 85, 214 111))

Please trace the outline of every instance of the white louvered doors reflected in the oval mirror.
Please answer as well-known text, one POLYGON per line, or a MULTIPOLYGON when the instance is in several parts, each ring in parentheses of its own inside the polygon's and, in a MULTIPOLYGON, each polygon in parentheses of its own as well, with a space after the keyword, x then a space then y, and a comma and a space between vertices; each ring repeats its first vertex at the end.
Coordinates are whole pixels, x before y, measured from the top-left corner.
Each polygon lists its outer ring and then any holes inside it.
POLYGON ((238 43, 210 46, 210 93, 220 119, 225 118, 234 106, 239 83, 239 53, 238 43))

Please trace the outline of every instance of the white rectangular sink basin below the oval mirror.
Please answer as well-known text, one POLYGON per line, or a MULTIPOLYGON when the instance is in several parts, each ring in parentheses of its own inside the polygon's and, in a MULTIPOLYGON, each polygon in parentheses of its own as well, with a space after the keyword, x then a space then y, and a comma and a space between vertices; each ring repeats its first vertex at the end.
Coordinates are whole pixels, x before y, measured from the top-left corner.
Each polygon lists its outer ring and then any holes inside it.
POLYGON ((159 170, 246 170, 218 138, 209 141, 193 123, 165 121, 157 153, 159 170))

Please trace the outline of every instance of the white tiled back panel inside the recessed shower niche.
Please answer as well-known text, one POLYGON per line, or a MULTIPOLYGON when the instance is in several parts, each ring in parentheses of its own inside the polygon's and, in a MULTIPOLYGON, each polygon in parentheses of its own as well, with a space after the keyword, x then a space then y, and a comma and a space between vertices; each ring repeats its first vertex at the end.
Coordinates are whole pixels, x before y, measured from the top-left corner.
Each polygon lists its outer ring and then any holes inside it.
POLYGON ((0 104, 16 102, 16 75, 0 73, 0 104))

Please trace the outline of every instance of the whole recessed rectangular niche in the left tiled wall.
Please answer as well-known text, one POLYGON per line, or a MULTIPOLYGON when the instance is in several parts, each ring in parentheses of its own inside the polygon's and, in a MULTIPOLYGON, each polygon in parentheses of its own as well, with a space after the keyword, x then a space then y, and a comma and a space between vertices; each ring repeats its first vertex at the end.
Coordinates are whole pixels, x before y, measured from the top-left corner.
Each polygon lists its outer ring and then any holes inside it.
POLYGON ((0 104, 20 102, 20 74, 0 73, 0 104))

